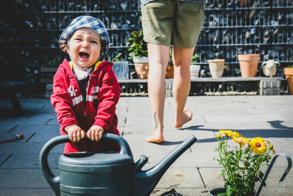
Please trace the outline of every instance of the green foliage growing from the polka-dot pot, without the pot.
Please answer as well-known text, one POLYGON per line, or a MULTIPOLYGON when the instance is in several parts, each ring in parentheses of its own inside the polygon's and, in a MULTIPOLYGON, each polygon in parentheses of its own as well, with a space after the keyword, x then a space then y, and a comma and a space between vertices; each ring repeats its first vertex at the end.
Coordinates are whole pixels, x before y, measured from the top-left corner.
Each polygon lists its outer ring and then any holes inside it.
POLYGON ((148 56, 147 53, 147 42, 143 40, 143 31, 132 31, 130 38, 127 40, 128 42, 128 51, 130 52, 128 55, 130 59, 133 57, 143 57, 148 56))

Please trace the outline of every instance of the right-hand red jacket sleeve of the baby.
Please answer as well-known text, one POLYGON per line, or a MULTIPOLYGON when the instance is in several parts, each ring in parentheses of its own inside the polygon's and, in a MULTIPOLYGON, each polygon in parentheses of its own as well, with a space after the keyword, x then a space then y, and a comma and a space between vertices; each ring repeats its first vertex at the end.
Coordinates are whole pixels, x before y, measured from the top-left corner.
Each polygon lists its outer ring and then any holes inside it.
POLYGON ((120 98, 121 88, 112 67, 104 66, 99 80, 102 82, 98 94, 98 112, 93 125, 99 125, 106 131, 115 116, 116 104, 120 98), (102 77, 102 79, 100 79, 102 77))

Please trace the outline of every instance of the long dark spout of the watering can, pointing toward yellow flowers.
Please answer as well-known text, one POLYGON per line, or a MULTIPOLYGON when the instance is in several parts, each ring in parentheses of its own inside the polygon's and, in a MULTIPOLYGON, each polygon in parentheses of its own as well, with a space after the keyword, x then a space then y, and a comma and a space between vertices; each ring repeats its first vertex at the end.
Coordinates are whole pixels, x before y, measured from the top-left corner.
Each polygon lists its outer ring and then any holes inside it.
POLYGON ((134 166, 133 195, 150 195, 166 170, 196 141, 197 139, 195 136, 191 135, 187 140, 181 143, 163 160, 161 160, 160 163, 148 170, 141 170, 141 168, 147 163, 148 158, 143 156, 140 160, 138 160, 134 166))

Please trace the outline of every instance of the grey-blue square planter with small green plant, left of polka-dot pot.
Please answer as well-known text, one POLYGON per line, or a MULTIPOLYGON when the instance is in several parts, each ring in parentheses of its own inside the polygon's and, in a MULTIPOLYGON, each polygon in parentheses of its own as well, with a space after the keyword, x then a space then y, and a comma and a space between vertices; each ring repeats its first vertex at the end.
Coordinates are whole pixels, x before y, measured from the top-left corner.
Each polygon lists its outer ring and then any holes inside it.
POLYGON ((114 63, 112 69, 117 79, 129 79, 128 61, 122 58, 122 53, 118 53, 113 59, 114 63))

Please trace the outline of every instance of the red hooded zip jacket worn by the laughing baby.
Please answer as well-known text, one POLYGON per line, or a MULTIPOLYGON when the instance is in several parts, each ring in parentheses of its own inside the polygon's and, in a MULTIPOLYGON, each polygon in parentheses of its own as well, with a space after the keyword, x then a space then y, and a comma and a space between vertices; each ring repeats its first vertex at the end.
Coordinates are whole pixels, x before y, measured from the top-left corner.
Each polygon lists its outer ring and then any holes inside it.
MULTIPOLYGON (((85 133, 92 125, 99 125, 104 128, 104 133, 119 135, 115 110, 121 88, 112 66, 113 63, 109 61, 96 63, 88 80, 86 104, 84 104, 77 79, 72 72, 72 63, 64 59, 54 76, 54 94, 51 96, 51 103, 61 125, 61 135, 67 134, 64 128, 71 124, 78 125, 85 133)), ((78 143, 65 143, 64 153, 119 150, 119 145, 109 141, 86 140, 78 143)))

